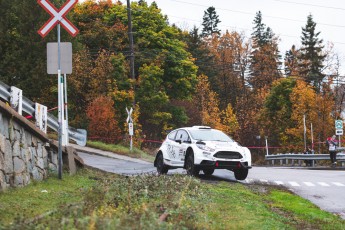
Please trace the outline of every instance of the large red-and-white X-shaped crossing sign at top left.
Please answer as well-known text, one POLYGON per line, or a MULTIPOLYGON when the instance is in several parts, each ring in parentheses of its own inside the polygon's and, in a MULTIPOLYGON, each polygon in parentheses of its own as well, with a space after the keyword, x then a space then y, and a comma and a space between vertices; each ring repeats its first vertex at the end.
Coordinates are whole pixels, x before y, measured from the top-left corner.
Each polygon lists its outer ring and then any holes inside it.
POLYGON ((49 0, 37 0, 38 4, 50 14, 50 19, 38 30, 38 34, 43 38, 56 26, 58 23, 62 25, 67 32, 73 37, 79 33, 67 18, 66 14, 77 4, 78 0, 68 0, 60 9, 57 9, 49 0))

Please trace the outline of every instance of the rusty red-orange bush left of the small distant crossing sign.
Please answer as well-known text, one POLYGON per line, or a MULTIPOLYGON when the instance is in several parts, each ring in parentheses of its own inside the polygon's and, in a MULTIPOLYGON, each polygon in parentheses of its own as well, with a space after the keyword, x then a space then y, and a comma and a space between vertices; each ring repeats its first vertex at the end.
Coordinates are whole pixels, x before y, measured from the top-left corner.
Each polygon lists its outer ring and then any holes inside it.
POLYGON ((108 143, 114 143, 121 138, 113 105, 113 100, 107 96, 99 96, 89 104, 86 114, 89 119, 90 137, 97 137, 108 143))

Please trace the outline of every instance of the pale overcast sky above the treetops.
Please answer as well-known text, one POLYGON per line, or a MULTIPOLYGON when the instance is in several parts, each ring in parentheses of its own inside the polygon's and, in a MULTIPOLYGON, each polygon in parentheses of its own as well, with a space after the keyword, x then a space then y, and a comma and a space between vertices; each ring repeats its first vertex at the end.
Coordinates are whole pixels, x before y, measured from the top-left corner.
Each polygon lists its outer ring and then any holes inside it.
MULTIPOLYGON (((126 1, 122 0, 124 4, 126 1)), ((146 0, 151 4, 153 0, 146 0)), ((291 48, 301 46, 302 27, 309 14, 316 23, 316 32, 327 46, 333 43, 334 52, 340 58, 340 75, 345 75, 345 4, 343 0, 155 0, 170 24, 184 30, 193 26, 202 29, 204 11, 213 6, 221 23, 218 28, 225 32, 243 32, 250 37, 253 21, 258 11, 262 22, 279 36, 282 55, 291 48)))

